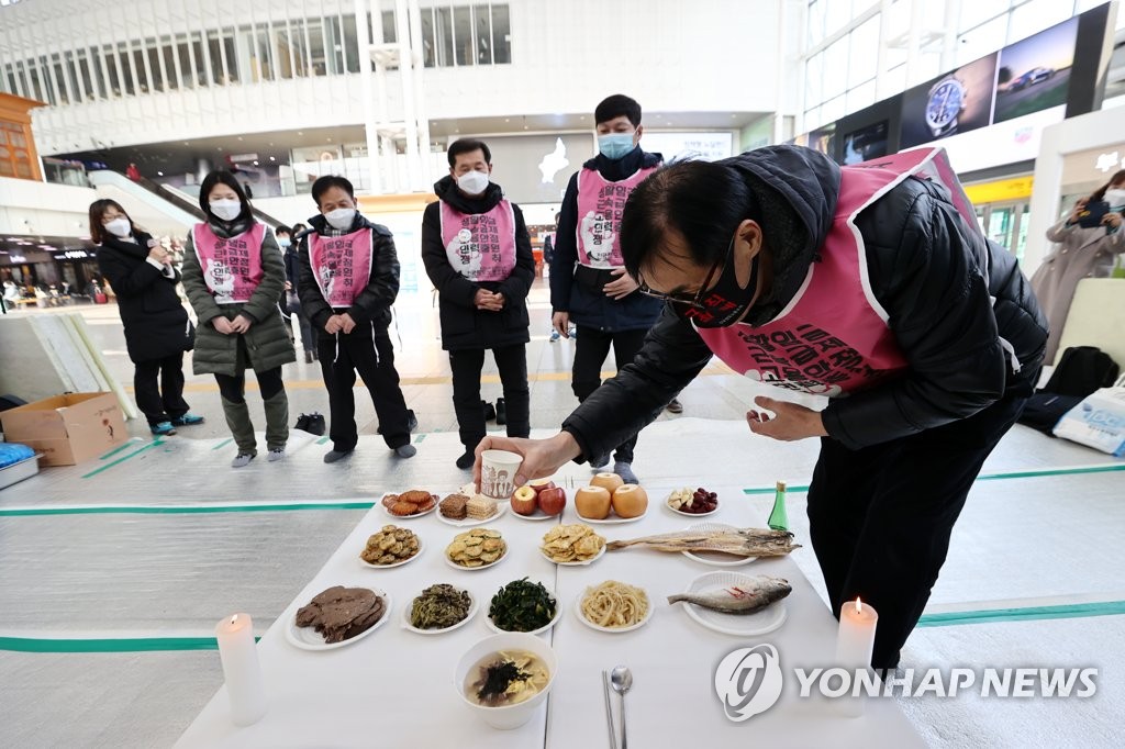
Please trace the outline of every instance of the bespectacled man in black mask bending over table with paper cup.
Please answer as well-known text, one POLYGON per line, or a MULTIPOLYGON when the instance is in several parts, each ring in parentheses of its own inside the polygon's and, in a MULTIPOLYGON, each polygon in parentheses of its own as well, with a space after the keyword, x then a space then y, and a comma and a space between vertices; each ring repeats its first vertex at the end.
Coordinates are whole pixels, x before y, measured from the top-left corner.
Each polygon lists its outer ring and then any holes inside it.
POLYGON ((820 439, 809 520, 832 611, 872 604, 872 665, 893 668, 969 489, 1038 376, 1046 321, 1015 258, 980 235, 929 150, 843 170, 792 146, 675 164, 637 188, 621 234, 626 268, 667 301, 645 348, 559 435, 488 439, 478 453, 522 453, 518 482, 597 461, 713 353, 829 396, 819 412, 758 397, 747 421, 820 439))

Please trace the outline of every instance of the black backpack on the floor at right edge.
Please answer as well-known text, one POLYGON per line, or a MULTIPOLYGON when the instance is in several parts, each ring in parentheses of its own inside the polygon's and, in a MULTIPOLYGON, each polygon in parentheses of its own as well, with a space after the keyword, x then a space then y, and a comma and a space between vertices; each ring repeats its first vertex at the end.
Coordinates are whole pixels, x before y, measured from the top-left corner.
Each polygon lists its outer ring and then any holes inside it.
POLYGON ((1097 346, 1066 349, 1047 383, 1027 399, 1019 423, 1054 436, 1059 419, 1098 388, 1113 385, 1118 371, 1117 362, 1097 346))

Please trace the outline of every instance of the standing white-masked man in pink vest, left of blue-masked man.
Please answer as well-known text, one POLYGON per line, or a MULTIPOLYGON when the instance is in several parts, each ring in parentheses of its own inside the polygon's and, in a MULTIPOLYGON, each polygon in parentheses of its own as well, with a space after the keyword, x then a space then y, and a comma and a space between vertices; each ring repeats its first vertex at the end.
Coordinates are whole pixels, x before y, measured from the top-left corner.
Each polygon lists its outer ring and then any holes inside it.
POLYGON ((528 290, 536 274, 531 238, 519 206, 489 182, 492 153, 482 141, 449 146, 449 174, 434 186, 438 202, 422 217, 422 261, 438 289, 441 345, 453 372, 453 409, 472 466, 485 436, 480 369, 490 349, 504 385, 507 435, 530 434, 528 290))

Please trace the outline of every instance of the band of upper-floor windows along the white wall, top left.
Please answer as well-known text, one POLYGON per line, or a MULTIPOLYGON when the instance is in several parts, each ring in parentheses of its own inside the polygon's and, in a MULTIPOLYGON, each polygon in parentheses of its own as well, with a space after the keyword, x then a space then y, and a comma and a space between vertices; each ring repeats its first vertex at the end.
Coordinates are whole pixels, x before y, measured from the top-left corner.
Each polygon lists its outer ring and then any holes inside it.
MULTIPOLYGON (((368 22, 372 17, 368 16, 368 22)), ((397 40, 395 12, 380 13, 371 39, 397 40)), ((426 67, 512 62, 507 4, 422 8, 426 67)), ((0 57, 0 90, 66 106, 120 97, 358 73, 356 16, 266 18, 249 25, 129 39, 25 60, 0 57)))

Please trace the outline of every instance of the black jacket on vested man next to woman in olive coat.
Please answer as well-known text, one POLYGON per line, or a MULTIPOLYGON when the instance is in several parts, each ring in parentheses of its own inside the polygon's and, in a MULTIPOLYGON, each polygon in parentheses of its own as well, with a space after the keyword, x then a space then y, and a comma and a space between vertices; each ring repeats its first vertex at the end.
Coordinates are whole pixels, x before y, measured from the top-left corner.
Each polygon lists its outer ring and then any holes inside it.
POLYGON ((390 306, 398 296, 398 255, 395 252, 395 238, 386 226, 369 222, 362 214, 356 214, 352 225, 339 232, 331 226, 324 216, 316 215, 308 219, 312 227, 302 234, 297 262, 300 277, 297 283, 297 296, 300 297, 300 309, 317 331, 324 330, 324 324, 334 314, 332 307, 321 292, 313 276, 313 267, 308 261, 308 244, 313 232, 323 236, 343 236, 361 228, 371 229, 371 276, 367 288, 360 291, 346 312, 359 324, 372 324, 377 332, 385 332, 390 325, 390 306))

